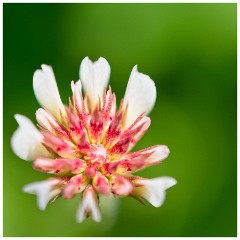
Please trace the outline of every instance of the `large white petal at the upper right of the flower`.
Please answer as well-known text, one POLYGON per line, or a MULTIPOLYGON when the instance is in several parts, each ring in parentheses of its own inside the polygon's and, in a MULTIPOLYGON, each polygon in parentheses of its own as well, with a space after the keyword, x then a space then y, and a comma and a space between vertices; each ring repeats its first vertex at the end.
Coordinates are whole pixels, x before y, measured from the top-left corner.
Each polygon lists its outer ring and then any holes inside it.
POLYGON ((128 80, 124 96, 124 104, 128 105, 125 128, 129 127, 140 114, 147 115, 152 110, 156 96, 153 80, 149 76, 139 73, 137 66, 135 66, 128 80))

